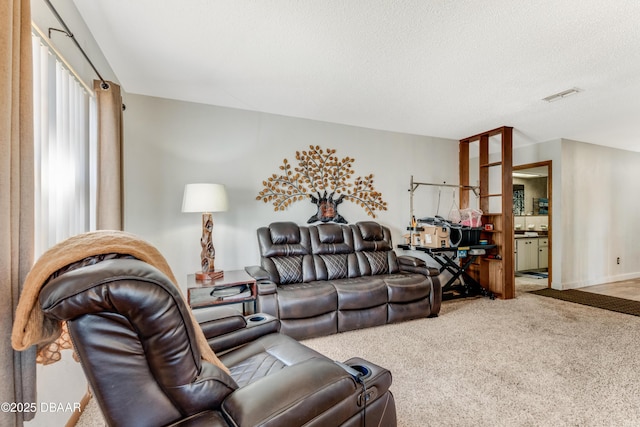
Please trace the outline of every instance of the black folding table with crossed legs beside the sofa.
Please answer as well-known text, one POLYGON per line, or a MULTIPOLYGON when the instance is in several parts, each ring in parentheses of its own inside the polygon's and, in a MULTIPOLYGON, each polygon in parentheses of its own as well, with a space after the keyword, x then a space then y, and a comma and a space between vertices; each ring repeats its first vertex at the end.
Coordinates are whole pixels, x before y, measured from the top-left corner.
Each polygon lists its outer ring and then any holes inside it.
POLYGON ((493 292, 486 290, 473 277, 467 273, 467 269, 479 256, 485 256, 486 251, 495 248, 496 245, 471 245, 452 248, 426 248, 424 246, 398 245, 404 250, 415 250, 427 253, 434 261, 440 264, 440 273, 448 271, 451 278, 442 286, 442 299, 465 298, 475 295, 495 298, 493 292), (475 250, 484 249, 485 254, 476 254, 475 250), (466 251, 466 256, 459 257, 458 252, 466 251), (454 283, 460 279, 460 284, 454 283), (445 295, 447 294, 447 295, 445 295))

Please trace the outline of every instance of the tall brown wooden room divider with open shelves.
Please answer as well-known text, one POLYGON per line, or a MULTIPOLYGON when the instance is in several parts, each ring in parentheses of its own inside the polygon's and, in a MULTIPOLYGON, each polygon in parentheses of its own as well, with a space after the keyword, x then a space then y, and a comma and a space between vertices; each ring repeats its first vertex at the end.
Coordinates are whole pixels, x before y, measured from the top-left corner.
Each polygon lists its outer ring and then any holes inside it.
MULTIPOLYGON (((490 292, 502 299, 515 297, 514 242, 513 242, 513 128, 502 126, 460 140, 460 185, 469 186, 469 146, 479 142, 479 208, 484 213, 483 224, 493 224, 493 230, 483 230, 481 239, 496 245, 500 259, 480 258, 469 268, 477 280, 490 292), (491 161, 489 138, 500 137, 500 160, 491 161), (490 169, 501 168, 500 193, 490 193, 490 169), (500 198, 500 212, 491 212, 490 199, 500 198)), ((495 190, 494 190, 495 191, 495 190)), ((460 208, 469 207, 469 191, 460 191, 460 208)))

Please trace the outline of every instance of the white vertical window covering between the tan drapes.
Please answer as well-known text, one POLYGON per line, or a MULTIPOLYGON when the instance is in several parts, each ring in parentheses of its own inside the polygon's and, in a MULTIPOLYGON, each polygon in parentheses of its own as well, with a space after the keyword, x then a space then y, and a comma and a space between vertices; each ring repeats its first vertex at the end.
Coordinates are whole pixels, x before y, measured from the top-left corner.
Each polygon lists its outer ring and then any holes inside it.
POLYGON ((95 97, 33 36, 35 255, 95 229, 95 97), (93 171, 93 172, 92 172, 93 171))

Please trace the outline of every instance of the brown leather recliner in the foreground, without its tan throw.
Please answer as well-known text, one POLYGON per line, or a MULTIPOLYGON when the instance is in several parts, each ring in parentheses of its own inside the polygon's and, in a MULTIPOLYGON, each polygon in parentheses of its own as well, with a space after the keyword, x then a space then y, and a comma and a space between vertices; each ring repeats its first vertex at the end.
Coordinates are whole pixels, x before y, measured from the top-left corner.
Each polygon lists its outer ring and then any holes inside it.
POLYGON ((358 358, 346 369, 275 332, 268 315, 196 313, 231 375, 201 360, 179 291, 140 260, 65 271, 39 300, 67 321, 109 425, 396 425, 389 371, 358 358))

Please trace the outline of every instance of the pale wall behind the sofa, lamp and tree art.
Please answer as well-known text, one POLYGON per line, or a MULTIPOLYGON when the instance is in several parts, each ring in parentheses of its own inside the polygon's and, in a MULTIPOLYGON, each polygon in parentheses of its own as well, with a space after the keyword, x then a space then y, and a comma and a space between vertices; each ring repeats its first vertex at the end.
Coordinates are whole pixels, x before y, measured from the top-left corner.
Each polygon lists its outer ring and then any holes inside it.
MULTIPOLYGON (((256 229, 274 221, 306 223, 316 207, 308 201, 274 212, 257 201, 262 181, 283 159, 294 165, 296 151, 309 145, 334 148, 355 159, 356 176, 374 174, 388 210, 375 220, 390 227, 400 243, 409 224, 409 182, 458 181, 454 140, 377 131, 353 126, 128 95, 125 111, 125 229, 165 255, 179 280, 198 269, 200 215, 181 213, 184 185, 216 182, 227 186, 230 208, 214 214, 216 267, 242 269, 259 264, 256 229)), ((451 204, 443 196, 441 213, 451 204)), ((437 189, 421 187, 416 216, 434 215, 437 189)), ((344 202, 339 212, 350 223, 371 219, 344 202)))

